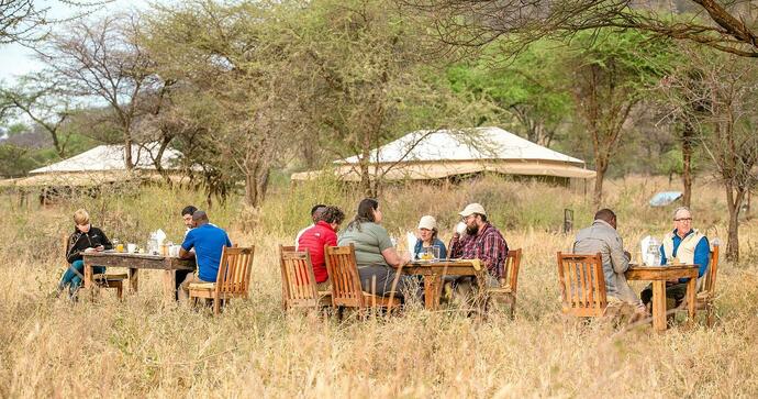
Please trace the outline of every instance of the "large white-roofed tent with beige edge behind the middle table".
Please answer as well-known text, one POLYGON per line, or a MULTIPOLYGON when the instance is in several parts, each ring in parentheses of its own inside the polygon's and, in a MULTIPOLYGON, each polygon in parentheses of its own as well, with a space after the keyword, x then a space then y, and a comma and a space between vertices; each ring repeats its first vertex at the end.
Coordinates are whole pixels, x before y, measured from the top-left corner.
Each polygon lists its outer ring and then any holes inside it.
MULTIPOLYGON (((482 171, 566 180, 595 177, 582 159, 500 128, 417 131, 375 148, 369 157, 371 176, 383 175, 384 180, 427 180, 482 171)), ((292 180, 334 173, 342 180, 360 181, 358 162, 357 156, 335 160, 330 169, 293 174, 292 180)))

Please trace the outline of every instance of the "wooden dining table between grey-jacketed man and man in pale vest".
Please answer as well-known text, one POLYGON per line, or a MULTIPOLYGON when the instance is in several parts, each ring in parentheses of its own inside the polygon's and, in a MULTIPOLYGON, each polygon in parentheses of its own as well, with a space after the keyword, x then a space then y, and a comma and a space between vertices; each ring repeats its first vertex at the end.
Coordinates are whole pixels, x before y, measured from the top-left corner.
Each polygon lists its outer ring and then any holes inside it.
POLYGON ((632 265, 625 273, 627 280, 653 281, 653 329, 666 331, 666 281, 689 278, 687 284, 687 310, 690 322, 695 317, 695 284, 698 265, 638 266, 632 265))

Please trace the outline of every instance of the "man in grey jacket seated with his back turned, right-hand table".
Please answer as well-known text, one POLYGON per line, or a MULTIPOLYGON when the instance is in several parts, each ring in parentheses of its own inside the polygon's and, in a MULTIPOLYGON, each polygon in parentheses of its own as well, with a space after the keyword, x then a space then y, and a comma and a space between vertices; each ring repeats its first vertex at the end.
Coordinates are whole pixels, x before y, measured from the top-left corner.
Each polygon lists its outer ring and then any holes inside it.
POLYGON ((597 254, 603 258, 605 293, 627 302, 636 312, 645 313, 645 307, 632 290, 624 273, 629 268, 629 255, 624 251, 624 242, 616 232, 616 214, 610 209, 601 209, 594 214, 592 225, 577 233, 573 242, 575 254, 597 254))

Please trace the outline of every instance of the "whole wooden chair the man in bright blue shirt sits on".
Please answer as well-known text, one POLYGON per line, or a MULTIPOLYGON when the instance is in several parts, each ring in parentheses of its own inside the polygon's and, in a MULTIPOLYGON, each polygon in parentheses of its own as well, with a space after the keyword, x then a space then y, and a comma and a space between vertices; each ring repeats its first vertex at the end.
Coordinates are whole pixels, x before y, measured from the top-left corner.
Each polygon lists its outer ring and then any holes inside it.
POLYGON ((213 314, 219 314, 222 300, 248 298, 254 253, 255 246, 249 248, 224 246, 215 282, 191 282, 189 285, 190 300, 193 298, 213 299, 213 314))

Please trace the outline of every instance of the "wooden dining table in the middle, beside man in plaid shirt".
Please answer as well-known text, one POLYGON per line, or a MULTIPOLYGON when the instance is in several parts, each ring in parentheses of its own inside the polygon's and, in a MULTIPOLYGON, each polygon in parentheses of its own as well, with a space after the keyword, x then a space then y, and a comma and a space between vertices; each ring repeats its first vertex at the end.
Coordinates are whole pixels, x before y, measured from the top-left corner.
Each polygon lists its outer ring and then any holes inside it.
POLYGON ((402 266, 401 273, 411 276, 423 276, 424 308, 436 310, 439 308, 444 276, 476 276, 478 279, 481 279, 487 270, 483 266, 481 270, 475 269, 471 261, 443 259, 436 262, 412 261, 402 266))

